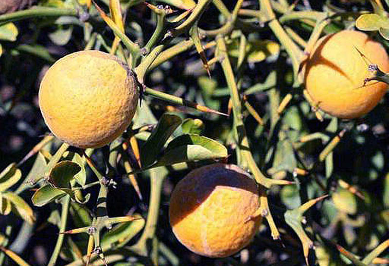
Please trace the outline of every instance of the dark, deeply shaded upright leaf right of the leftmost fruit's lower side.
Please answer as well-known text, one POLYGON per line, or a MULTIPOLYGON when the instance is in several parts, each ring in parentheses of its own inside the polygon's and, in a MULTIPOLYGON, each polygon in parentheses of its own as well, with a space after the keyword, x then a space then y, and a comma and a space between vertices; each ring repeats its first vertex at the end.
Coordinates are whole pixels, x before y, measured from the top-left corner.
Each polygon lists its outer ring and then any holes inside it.
POLYGON ((142 166, 149 166, 157 159, 160 150, 181 123, 182 119, 179 116, 171 114, 162 115, 157 127, 141 149, 142 166))

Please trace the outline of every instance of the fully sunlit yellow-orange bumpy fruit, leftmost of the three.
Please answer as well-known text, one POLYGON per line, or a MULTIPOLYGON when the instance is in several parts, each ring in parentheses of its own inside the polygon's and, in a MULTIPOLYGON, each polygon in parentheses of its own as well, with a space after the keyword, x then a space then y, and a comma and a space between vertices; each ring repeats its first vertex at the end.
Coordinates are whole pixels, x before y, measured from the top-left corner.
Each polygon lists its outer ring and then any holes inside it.
POLYGON ((61 58, 47 70, 39 88, 39 106, 49 129, 84 149, 102 147, 120 136, 138 98, 128 67, 97 50, 61 58))

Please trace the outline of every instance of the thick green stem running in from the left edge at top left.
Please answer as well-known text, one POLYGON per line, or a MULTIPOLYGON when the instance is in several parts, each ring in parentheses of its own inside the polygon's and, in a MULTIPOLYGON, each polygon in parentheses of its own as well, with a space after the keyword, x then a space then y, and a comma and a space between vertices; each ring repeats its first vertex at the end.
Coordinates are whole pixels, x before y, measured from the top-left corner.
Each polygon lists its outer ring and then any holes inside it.
POLYGON ((0 25, 32 17, 60 17, 60 16, 73 16, 78 15, 77 10, 69 8, 54 8, 37 6, 27 10, 8 13, 0 16, 0 25))

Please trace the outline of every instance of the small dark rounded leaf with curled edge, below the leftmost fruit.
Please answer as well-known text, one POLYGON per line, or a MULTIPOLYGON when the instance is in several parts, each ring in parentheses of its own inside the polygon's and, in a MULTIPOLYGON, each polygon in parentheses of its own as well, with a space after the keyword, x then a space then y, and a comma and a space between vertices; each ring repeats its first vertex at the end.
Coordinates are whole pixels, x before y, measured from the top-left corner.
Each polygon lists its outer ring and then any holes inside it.
POLYGON ((49 182, 56 188, 71 188, 70 181, 81 171, 81 166, 72 161, 57 163, 50 172, 49 182))

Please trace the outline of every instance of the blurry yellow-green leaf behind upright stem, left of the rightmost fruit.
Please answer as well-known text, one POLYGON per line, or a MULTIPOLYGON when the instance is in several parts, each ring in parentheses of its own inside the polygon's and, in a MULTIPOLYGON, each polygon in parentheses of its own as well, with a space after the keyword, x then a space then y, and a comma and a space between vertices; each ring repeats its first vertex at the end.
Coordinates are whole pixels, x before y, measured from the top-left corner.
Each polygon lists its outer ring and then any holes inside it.
MULTIPOLYGON (((232 57, 239 57, 239 40, 234 39, 228 44, 228 53, 232 57)), ((277 56, 280 52, 280 45, 270 40, 252 40, 246 45, 246 54, 249 63, 264 61, 269 56, 277 56)))

